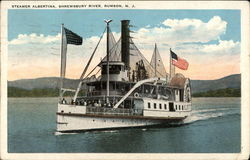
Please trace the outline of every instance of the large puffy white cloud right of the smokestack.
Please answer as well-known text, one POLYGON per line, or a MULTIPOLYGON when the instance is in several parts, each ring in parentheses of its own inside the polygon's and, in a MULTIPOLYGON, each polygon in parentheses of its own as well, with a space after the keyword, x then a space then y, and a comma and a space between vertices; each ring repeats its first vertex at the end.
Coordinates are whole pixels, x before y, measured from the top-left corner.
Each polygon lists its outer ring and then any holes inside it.
POLYGON ((156 40, 169 45, 177 43, 202 42, 217 40, 225 34, 227 22, 219 16, 212 17, 208 22, 199 19, 166 19, 160 27, 141 28, 137 31, 138 39, 155 43, 156 40))

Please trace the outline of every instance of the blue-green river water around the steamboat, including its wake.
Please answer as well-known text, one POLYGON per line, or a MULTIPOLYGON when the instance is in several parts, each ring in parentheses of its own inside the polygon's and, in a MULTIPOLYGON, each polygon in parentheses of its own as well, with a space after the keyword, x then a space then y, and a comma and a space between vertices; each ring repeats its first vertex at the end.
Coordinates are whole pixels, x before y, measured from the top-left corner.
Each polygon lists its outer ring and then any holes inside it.
POLYGON ((55 135, 57 98, 8 99, 10 153, 239 153, 240 98, 193 98, 175 127, 55 135))

